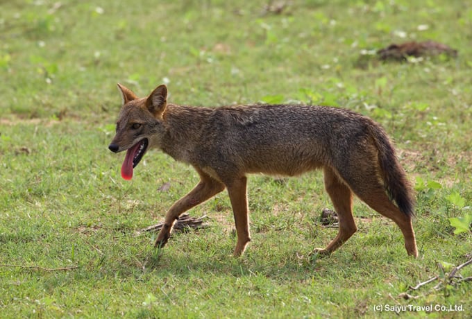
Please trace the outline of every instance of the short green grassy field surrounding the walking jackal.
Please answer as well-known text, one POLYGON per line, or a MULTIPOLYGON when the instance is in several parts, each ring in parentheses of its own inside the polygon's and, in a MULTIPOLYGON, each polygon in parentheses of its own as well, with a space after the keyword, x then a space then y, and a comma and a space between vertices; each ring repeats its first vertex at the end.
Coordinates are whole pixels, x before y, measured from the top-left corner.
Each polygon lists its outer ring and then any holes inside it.
MULTIPOLYGON (((471 281, 448 279, 472 258, 471 4, 266 5, 0 1, 1 318, 471 316, 471 281), (407 40, 459 54, 376 59, 407 40), (137 231, 162 221, 198 175, 152 151, 133 182, 121 179, 124 154, 107 149, 116 83, 140 96, 167 83, 180 104, 311 103, 372 117, 415 183, 419 258, 358 200, 359 231, 332 256, 310 258, 337 232, 319 223, 332 207, 315 172, 251 176, 252 241, 240 259, 226 193, 189 212, 208 215, 210 227, 154 250, 156 234, 137 231)), ((457 275, 472 276, 472 266, 457 275)))

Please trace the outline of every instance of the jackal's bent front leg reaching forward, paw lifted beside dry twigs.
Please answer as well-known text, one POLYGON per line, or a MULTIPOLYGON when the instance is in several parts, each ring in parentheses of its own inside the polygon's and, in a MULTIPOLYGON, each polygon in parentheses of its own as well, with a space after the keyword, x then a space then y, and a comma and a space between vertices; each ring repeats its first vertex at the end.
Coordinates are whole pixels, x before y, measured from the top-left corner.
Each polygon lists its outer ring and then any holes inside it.
POLYGON ((169 211, 165 216, 164 225, 162 225, 162 229, 158 234, 158 238, 155 239, 154 246, 155 247, 163 247, 171 236, 172 226, 178 216, 187 212, 187 210, 191 209, 192 207, 205 202, 215 196, 220 191, 225 189, 224 184, 214 180, 211 178, 210 175, 207 175, 203 171, 197 169, 196 170, 200 174, 200 182, 199 184, 192 189, 187 195, 177 200, 174 205, 171 206, 169 211))

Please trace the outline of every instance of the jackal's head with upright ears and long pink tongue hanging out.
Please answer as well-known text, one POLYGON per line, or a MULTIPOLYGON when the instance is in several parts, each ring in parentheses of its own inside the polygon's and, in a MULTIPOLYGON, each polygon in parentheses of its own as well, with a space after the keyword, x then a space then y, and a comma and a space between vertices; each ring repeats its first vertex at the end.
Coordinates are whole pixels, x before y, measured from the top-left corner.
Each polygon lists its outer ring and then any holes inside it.
POLYGON ((160 85, 146 98, 138 98, 130 89, 118 84, 123 106, 117 119, 117 129, 108 148, 119 153, 126 150, 121 177, 133 178, 133 169, 146 150, 159 147, 164 134, 163 114, 167 106, 167 87, 160 85))

